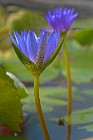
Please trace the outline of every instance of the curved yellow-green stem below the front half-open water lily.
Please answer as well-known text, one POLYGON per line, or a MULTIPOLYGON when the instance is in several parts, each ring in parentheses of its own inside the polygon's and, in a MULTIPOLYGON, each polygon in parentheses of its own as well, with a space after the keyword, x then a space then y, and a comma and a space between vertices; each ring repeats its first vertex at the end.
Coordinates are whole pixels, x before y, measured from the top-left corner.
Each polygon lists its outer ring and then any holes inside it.
POLYGON ((39 75, 34 76, 34 97, 35 97, 35 104, 36 110, 38 114, 38 118, 40 120, 41 128, 44 134, 44 140, 50 140, 48 130, 45 124, 45 120, 43 117, 41 105, 40 105, 40 98, 39 98, 39 75))

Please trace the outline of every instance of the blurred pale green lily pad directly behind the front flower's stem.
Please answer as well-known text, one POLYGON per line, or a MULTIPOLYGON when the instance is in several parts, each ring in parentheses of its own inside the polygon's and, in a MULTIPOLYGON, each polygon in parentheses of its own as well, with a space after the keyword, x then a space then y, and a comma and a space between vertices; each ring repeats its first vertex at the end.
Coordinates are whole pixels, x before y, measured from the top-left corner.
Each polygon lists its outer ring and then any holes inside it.
MULTIPOLYGON (((34 102, 34 89, 29 88, 29 97, 23 100, 24 109, 28 111, 35 111, 35 102, 34 102)), ((64 99, 67 98, 66 88, 54 88, 54 87, 40 87, 40 100, 42 110, 44 112, 51 112, 55 106, 66 106, 67 101, 64 99), (65 90, 65 93, 64 93, 65 90), (58 95, 58 96, 57 96, 58 95)))

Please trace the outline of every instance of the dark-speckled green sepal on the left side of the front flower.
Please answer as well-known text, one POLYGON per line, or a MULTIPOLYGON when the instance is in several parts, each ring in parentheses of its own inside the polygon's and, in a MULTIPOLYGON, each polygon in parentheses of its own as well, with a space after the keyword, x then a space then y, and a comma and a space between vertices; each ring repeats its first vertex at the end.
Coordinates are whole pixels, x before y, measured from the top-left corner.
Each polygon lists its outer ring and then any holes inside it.
POLYGON ((37 66, 31 61, 29 60, 13 43, 13 48, 18 56, 18 58, 20 59, 20 61, 24 64, 24 66, 33 74, 35 75, 36 73, 38 73, 38 69, 37 66))

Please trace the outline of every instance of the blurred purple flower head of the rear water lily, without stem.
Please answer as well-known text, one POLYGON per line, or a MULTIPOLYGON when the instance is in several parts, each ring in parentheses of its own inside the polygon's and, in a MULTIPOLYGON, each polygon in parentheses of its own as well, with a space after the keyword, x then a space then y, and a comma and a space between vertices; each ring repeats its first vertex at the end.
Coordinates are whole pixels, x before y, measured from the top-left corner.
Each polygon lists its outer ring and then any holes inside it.
POLYGON ((74 14, 73 8, 59 8, 54 9, 51 13, 47 12, 45 15, 46 21, 54 30, 69 30, 72 23, 77 18, 78 13, 74 14))

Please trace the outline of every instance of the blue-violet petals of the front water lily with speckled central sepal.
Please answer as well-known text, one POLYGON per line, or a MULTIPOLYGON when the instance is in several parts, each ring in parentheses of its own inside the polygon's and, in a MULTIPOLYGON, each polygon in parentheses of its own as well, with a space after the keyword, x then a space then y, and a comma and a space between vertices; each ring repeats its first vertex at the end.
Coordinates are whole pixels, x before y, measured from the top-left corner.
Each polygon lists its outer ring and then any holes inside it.
POLYGON ((39 36, 33 30, 29 32, 24 30, 21 32, 21 35, 14 31, 14 37, 10 33, 14 46, 19 50, 18 54, 22 52, 35 65, 37 70, 40 70, 55 52, 59 37, 60 31, 53 31, 49 34, 42 30, 39 36))

